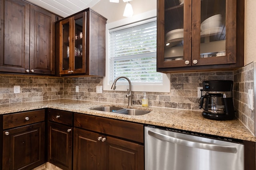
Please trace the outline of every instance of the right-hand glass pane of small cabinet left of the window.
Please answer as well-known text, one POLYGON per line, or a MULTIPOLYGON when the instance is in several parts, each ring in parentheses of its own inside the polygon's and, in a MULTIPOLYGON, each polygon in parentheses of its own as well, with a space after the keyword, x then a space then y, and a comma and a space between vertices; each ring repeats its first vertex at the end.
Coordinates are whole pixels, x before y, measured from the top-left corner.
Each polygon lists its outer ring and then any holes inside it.
POLYGON ((75 20, 75 69, 83 67, 83 18, 75 20))

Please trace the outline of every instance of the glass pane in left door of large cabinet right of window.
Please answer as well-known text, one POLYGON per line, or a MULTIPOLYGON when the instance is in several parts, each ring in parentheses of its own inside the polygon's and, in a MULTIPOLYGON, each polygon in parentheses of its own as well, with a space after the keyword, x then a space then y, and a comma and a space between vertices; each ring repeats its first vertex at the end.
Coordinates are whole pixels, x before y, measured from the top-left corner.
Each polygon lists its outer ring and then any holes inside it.
POLYGON ((164 60, 183 60, 183 0, 165 0, 164 3, 164 60))

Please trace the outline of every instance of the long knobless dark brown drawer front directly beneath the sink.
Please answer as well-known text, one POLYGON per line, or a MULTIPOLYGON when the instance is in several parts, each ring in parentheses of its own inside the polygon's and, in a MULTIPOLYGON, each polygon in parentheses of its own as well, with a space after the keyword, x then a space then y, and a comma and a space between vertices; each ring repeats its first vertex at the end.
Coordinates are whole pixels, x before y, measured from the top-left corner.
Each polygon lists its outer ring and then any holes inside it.
POLYGON ((138 123, 75 113, 74 126, 144 143, 143 125, 138 123))

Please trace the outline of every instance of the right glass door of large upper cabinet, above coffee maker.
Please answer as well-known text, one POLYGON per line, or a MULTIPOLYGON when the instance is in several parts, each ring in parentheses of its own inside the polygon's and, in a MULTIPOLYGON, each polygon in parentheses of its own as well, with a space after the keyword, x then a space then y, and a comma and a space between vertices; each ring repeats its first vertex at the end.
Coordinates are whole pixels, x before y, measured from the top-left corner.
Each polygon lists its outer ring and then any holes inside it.
POLYGON ((236 63, 236 1, 192 3, 192 66, 236 63))

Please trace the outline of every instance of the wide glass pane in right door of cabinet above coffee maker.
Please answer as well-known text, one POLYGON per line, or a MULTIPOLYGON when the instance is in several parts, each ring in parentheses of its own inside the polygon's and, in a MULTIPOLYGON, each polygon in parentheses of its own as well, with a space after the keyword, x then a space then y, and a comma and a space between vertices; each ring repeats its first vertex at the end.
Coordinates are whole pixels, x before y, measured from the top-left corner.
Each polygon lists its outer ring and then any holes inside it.
POLYGON ((226 56, 226 0, 201 0, 200 57, 226 56))

